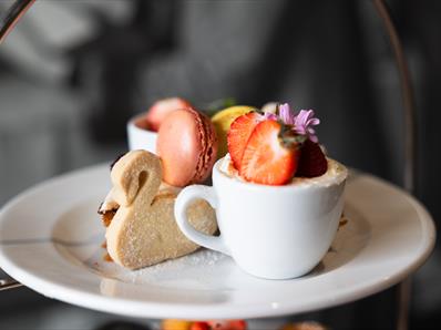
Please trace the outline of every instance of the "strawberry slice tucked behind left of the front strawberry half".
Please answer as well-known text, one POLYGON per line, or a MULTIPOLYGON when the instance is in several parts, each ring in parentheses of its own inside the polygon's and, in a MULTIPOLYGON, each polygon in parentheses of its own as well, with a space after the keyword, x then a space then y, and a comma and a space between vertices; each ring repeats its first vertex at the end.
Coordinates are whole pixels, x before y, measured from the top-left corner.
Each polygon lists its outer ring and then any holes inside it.
POLYGON ((229 126, 227 134, 228 153, 236 169, 240 169, 240 162, 245 146, 247 145, 254 128, 260 121, 261 115, 257 112, 249 112, 238 116, 229 126))

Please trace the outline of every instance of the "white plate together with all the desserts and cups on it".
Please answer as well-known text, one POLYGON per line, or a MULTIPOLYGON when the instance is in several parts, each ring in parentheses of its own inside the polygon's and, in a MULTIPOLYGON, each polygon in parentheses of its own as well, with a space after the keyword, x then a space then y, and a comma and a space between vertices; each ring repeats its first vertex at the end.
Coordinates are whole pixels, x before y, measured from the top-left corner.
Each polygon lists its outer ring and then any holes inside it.
POLYGON ((329 157, 318 124, 288 104, 209 117, 161 100, 129 122, 131 151, 111 166, 1 209, 0 267, 47 297, 141 318, 275 317, 381 291, 429 257, 433 221, 329 157))

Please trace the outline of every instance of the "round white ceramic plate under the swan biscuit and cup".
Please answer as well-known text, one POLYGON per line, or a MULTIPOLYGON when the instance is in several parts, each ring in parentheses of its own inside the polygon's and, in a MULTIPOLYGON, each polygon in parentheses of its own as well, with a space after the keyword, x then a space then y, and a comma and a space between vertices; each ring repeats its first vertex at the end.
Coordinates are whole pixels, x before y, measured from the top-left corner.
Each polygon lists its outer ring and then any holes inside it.
POLYGON ((432 250, 430 215, 402 190, 368 175, 349 179, 332 250, 309 275, 263 280, 229 257, 199 250, 129 271, 103 259, 96 214, 109 166, 53 178, 0 213, 0 267, 31 289, 73 305, 145 318, 258 318, 357 300, 414 271, 432 250))

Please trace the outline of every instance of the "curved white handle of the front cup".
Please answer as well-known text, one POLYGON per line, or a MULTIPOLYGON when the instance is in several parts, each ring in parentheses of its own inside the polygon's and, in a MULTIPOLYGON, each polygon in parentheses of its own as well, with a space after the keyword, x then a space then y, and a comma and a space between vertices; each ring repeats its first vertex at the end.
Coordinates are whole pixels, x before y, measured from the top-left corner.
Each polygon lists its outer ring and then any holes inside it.
POLYGON ((219 236, 205 235, 196 230, 188 223, 186 210, 189 204, 196 198, 205 199, 213 208, 217 207, 217 196, 213 187, 203 186, 203 185, 193 185, 185 187, 180 193, 180 195, 177 195, 175 202, 174 213, 177 226, 189 240, 193 240, 197 245, 201 245, 208 249, 216 250, 229 256, 230 255, 229 249, 225 245, 222 235, 219 236))

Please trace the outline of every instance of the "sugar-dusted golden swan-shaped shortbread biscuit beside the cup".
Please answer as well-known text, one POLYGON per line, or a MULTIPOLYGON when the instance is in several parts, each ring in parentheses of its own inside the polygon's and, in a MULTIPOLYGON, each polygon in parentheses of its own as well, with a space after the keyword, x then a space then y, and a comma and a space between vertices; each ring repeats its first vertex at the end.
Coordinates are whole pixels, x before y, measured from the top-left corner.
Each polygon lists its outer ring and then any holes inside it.
MULTIPOLYGON (((126 268, 137 269, 195 251, 174 219, 174 189, 160 190, 160 158, 146 151, 132 151, 112 167, 112 219, 106 229, 106 246, 112 259, 126 268), (115 207, 116 205, 116 207, 115 207)), ((213 208, 196 200, 188 208, 191 224, 212 235, 216 229, 213 208)))

